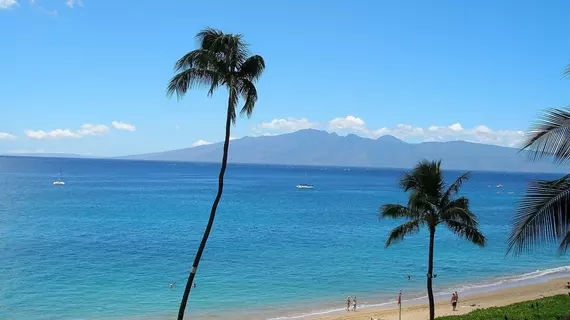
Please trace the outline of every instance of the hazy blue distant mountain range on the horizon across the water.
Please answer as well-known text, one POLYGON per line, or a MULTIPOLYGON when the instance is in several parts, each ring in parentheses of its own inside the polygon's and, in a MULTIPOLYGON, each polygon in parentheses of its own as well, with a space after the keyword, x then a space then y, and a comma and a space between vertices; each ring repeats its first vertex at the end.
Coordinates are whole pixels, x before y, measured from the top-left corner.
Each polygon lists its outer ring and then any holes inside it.
MULTIPOLYGON (((122 159, 219 162, 222 143, 122 157, 122 159)), ((278 136, 244 137, 230 143, 229 162, 284 165, 410 168, 441 159, 445 169, 567 172, 551 161, 530 162, 518 149, 471 143, 406 143, 393 136, 368 139, 306 129, 278 136)))

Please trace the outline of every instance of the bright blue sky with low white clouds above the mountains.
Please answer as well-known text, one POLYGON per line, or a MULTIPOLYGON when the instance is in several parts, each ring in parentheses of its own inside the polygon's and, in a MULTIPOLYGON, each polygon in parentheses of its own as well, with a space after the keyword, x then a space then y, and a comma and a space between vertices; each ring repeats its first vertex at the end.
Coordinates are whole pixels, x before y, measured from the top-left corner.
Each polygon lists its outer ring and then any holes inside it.
POLYGON ((223 90, 165 95, 206 26, 244 34, 267 65, 233 137, 312 127, 514 146, 541 110, 570 103, 568 12, 567 1, 0 0, 0 153, 222 140, 223 90))

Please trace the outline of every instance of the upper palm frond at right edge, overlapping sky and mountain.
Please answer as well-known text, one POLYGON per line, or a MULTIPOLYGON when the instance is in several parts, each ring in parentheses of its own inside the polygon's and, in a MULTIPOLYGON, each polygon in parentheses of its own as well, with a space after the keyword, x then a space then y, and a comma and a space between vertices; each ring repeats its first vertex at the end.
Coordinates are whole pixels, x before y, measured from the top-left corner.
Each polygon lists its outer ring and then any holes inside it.
POLYGON ((532 160, 554 156, 556 162, 570 161, 570 108, 543 112, 521 150, 532 160))

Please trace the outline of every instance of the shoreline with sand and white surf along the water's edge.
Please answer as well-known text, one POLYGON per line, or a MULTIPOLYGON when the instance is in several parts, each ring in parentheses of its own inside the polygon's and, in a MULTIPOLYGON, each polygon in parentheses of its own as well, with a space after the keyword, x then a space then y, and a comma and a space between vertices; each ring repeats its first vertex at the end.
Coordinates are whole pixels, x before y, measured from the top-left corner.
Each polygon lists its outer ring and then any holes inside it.
MULTIPOLYGON (((566 282, 570 281, 570 266, 561 266, 533 272, 482 280, 475 284, 445 286, 434 292, 436 316, 460 315, 477 308, 504 306, 521 301, 533 300, 540 296, 567 294, 566 282), (453 291, 458 291, 460 301, 458 311, 451 312, 449 297, 453 291), (475 304, 475 307, 470 305, 475 304)), ((396 304, 397 291, 393 295, 358 296, 360 304, 357 312, 346 312, 343 297, 339 303, 324 303, 313 305, 290 305, 287 303, 258 309, 242 309, 230 312, 212 312, 209 314, 192 315, 192 319, 258 319, 258 320, 370 320, 370 317, 382 320, 398 320, 396 304), (296 311, 295 311, 296 310, 296 311)), ((424 320, 428 316, 427 292, 424 290, 403 292, 402 319, 424 320)), ((170 319, 170 317, 150 317, 148 319, 170 319)), ((147 319, 147 318, 145 318, 147 319)))

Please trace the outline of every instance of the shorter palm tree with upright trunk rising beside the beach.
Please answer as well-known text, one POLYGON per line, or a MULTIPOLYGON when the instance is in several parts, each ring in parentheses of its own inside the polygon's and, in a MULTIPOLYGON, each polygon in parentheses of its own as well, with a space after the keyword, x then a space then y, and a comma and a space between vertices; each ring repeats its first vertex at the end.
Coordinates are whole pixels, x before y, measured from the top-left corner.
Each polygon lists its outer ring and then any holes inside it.
POLYGON ((441 161, 421 161, 411 172, 404 173, 400 179, 400 187, 405 192, 410 191, 407 206, 385 204, 380 208, 380 219, 407 220, 390 232, 386 247, 417 233, 420 227, 426 227, 429 231, 427 291, 431 320, 435 315, 432 280, 435 277, 433 249, 437 226, 443 224, 451 232, 479 247, 485 246, 487 241, 478 229, 477 217, 469 209, 469 200, 457 197, 461 185, 469 179, 469 176, 470 173, 466 172, 447 186, 443 180, 441 161))

